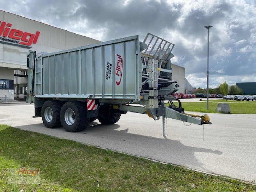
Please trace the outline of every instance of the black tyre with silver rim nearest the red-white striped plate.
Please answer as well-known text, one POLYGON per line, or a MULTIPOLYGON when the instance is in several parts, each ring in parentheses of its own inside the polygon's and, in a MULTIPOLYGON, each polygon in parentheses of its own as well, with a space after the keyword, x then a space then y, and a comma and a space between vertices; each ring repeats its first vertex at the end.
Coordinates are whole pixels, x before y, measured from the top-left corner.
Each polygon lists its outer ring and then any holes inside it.
POLYGON ((65 103, 60 111, 60 120, 62 126, 68 132, 78 132, 84 130, 89 124, 86 118, 85 103, 70 101, 65 103))

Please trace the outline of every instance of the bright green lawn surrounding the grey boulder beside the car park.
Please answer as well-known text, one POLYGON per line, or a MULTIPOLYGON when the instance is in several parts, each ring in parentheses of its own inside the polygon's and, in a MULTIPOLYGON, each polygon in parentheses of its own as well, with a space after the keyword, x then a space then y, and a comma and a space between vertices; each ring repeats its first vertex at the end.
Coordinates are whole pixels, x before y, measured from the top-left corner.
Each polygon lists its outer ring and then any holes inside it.
MULTIPOLYGON (((232 101, 232 100, 209 100, 209 110, 206 102, 182 102, 182 107, 186 111, 195 111, 202 113, 220 113, 215 111, 218 103, 228 103, 230 111, 233 114, 256 114, 255 101, 232 101)), ((175 102, 175 105, 178 106, 175 102)), ((168 103, 166 104, 168 106, 168 103)))

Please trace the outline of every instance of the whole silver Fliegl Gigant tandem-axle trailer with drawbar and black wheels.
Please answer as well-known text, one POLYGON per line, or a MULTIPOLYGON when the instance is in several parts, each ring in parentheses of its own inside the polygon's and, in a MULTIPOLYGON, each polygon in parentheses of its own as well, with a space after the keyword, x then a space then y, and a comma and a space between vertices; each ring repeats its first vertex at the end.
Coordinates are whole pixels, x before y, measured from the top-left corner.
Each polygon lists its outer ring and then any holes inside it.
POLYGON ((97 118, 114 124, 127 111, 162 116, 164 136, 165 117, 211 124, 207 115, 185 114, 180 101, 172 102, 179 86, 172 80, 173 47, 148 33, 143 42, 136 35, 49 54, 29 51, 27 102, 46 127, 68 132, 97 118))

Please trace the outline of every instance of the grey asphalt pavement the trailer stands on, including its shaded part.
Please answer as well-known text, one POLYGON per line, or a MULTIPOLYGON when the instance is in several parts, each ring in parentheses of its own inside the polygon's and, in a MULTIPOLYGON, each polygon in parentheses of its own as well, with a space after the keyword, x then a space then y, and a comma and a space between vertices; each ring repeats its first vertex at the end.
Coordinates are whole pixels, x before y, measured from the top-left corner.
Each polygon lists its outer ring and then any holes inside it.
POLYGON ((76 133, 46 128, 33 115, 33 104, 0 104, 0 124, 256 183, 255 114, 208 114, 212 125, 201 126, 167 119, 167 137, 161 120, 132 112, 76 133))

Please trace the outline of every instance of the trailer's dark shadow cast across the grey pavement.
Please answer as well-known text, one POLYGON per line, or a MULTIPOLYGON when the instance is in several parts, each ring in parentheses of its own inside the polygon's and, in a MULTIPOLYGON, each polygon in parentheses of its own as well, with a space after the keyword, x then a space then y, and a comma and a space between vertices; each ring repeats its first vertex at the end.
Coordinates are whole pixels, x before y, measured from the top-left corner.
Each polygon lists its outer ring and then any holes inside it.
MULTIPOLYGON (((17 128, 205 172, 212 171, 204 168, 204 163, 196 158, 195 152, 212 153, 217 156, 222 154, 222 152, 218 150, 187 146, 182 144, 179 140, 171 140, 166 137, 155 138, 132 134, 129 133, 128 128, 124 130, 118 129, 120 128, 118 124, 103 125, 97 122, 91 122, 84 131, 75 133, 66 132, 63 127, 55 129, 46 128, 43 124, 32 124, 19 126, 17 128)), ((218 158, 217 156, 216 159, 218 158)))

